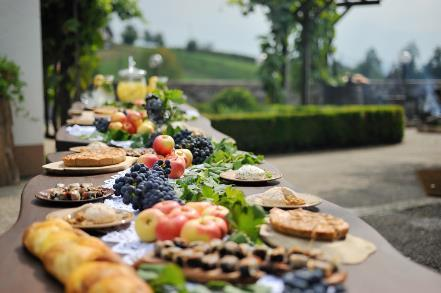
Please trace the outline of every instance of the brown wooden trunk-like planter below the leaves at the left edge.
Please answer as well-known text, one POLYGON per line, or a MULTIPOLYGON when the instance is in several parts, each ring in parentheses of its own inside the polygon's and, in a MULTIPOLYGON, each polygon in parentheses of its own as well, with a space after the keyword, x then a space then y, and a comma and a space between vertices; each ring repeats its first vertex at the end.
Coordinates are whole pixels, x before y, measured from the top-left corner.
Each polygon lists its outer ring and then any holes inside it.
POLYGON ((0 186, 16 184, 20 180, 14 158, 11 105, 3 97, 0 97, 0 174, 0 186))

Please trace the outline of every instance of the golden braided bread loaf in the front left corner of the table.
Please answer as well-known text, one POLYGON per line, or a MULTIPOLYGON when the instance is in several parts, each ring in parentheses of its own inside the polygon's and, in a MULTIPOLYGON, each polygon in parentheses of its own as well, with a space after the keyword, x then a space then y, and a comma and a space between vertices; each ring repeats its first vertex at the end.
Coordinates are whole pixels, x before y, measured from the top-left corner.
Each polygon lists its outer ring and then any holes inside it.
POLYGON ((23 234, 23 244, 66 292, 153 292, 104 242, 64 220, 33 223, 23 234))

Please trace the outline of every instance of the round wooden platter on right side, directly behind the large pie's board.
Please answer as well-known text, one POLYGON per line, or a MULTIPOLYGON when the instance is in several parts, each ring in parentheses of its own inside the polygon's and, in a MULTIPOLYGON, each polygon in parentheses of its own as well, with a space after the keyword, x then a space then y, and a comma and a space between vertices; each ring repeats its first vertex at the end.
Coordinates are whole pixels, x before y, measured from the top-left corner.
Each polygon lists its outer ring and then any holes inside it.
POLYGON ((301 198, 305 201, 302 205, 292 205, 285 203, 282 199, 278 201, 266 200, 264 193, 256 193, 246 197, 246 201, 250 204, 259 205, 264 208, 281 208, 281 209, 298 209, 298 208, 308 208, 319 205, 322 200, 312 194, 299 193, 296 192, 296 197, 301 198))

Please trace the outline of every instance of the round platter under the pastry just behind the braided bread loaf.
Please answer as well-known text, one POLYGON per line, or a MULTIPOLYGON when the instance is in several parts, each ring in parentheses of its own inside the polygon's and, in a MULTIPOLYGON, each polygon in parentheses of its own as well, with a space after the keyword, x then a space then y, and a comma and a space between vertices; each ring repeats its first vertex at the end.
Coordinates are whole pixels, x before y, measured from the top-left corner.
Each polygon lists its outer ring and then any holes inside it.
POLYGON ((130 221, 133 219, 133 213, 116 209, 116 215, 117 218, 108 223, 91 223, 91 222, 81 222, 81 223, 74 223, 72 220, 75 217, 75 213, 79 211, 82 207, 78 208, 70 208, 70 209, 62 209, 58 211, 51 212, 46 215, 46 219, 63 219, 68 221, 73 227, 80 228, 80 229, 105 229, 105 228, 112 228, 121 226, 127 223, 130 223, 130 221))

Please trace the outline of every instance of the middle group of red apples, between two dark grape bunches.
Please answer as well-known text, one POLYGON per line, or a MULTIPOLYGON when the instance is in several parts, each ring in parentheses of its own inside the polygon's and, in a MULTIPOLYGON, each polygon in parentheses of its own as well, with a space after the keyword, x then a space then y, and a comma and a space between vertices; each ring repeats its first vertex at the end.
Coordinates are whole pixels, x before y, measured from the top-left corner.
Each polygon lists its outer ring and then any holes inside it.
POLYGON ((175 141, 169 135, 158 135, 153 141, 155 154, 144 154, 138 158, 138 163, 142 163, 151 168, 159 160, 170 161, 169 178, 178 179, 184 175, 185 168, 191 166, 193 155, 188 149, 175 150, 175 141))

